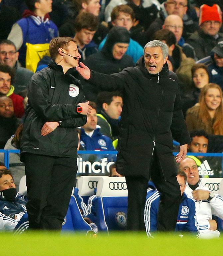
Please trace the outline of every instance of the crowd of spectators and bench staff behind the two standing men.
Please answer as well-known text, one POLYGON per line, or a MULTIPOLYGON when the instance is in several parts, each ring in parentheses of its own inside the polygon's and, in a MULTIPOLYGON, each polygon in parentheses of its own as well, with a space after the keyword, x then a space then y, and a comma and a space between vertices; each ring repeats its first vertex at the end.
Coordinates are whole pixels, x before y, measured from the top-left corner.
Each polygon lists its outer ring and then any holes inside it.
MULTIPOLYGON (((118 73, 137 65, 148 41, 166 43, 168 68, 177 75, 182 111, 192 139, 188 151, 222 153, 222 11, 222 0, 0 0, 0 149, 20 149, 24 113, 26 104, 29 104, 27 87, 30 78, 50 63, 51 39, 63 36, 76 41, 79 61, 105 74, 118 73)), ((74 76, 81 81, 85 98, 90 100, 93 108, 87 115, 87 123, 78 127, 80 150, 114 151, 125 103, 122 93, 101 91, 77 71, 74 76)), ((26 200, 15 192, 25 175, 25 168, 19 155, 13 155, 10 161, 15 165, 10 171, 0 170, 1 230, 13 230, 26 213, 26 200), (11 185, 3 186, 5 181, 11 185), (10 188, 14 194, 7 199, 2 191, 10 188), (10 211, 7 208, 14 201, 19 210, 13 208, 10 211)), ((4 161, 2 153, 0 161, 4 161)), ((206 163, 210 167, 209 177, 223 177, 221 157, 198 156, 193 160, 185 159, 180 164, 179 170, 186 175, 180 172, 178 182, 182 187, 182 200, 194 211, 191 223, 188 223, 192 228, 187 231, 199 233, 200 229, 200 233, 205 233, 210 230, 214 237, 219 236, 219 232, 212 214, 223 217, 223 198, 209 193, 201 196, 201 192, 195 198, 193 193, 197 188, 203 189, 197 167, 206 163), (188 173, 192 173, 192 168, 196 169, 196 181, 190 184, 188 173), (202 202, 204 211, 207 211, 207 218, 202 218, 209 220, 208 223, 201 218, 201 210, 197 210, 198 202, 202 202)), ((201 177, 207 176, 200 174, 201 177)), ((150 183, 145 207, 148 233, 156 229, 157 216, 151 213, 155 219, 150 220, 150 213, 146 212, 154 204, 151 201, 154 195, 157 195, 158 204, 160 194, 150 183), (149 228, 150 222, 155 223, 152 228, 149 228)), ((84 206, 87 208, 92 209, 92 205, 84 206)), ((153 210, 157 211, 157 205, 153 210)), ((92 214, 87 210, 82 212, 85 217, 92 214)), ((183 219, 179 220, 176 230, 184 229, 182 223, 183 219)))

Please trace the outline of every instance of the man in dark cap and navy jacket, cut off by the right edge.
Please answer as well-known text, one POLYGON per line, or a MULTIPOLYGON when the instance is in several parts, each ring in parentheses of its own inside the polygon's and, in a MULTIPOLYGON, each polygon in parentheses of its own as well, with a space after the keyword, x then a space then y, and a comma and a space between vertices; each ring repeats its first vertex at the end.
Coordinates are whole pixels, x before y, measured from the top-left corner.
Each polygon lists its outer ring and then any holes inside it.
POLYGON ((210 83, 223 89, 223 39, 211 50, 212 63, 208 65, 210 83))

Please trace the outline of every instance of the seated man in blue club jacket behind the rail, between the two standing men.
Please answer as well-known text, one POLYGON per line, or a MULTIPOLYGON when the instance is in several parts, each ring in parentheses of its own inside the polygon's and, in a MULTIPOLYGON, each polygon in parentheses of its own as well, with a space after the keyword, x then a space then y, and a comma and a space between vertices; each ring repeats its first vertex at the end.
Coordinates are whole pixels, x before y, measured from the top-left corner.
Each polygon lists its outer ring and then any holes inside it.
POLYGON ((90 101, 89 105, 92 107, 92 112, 87 115, 87 123, 81 129, 81 146, 85 150, 115 150, 111 139, 101 134, 100 126, 97 127, 96 103, 90 101))

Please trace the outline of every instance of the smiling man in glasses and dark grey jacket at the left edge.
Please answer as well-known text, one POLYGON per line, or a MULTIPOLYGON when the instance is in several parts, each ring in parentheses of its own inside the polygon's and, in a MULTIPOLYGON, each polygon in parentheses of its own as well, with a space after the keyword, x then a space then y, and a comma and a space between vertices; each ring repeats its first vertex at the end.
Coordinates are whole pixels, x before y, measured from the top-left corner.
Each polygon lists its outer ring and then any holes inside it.
MULTIPOLYGON (((14 93, 20 94, 21 91, 26 89, 33 72, 18 65, 19 53, 16 51, 15 44, 10 40, 0 41, 0 64, 7 65, 14 69, 15 79, 13 86, 15 87, 14 93)), ((25 95, 21 95, 25 96, 25 95)))

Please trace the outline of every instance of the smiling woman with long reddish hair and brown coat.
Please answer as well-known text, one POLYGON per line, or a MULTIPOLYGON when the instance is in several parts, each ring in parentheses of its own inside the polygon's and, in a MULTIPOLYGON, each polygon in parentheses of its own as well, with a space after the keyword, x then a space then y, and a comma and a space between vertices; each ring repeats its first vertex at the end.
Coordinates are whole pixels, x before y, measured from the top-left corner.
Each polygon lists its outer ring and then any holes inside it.
POLYGON ((223 135, 222 90, 216 83, 201 89, 199 104, 187 110, 186 124, 189 131, 204 130, 208 134, 223 135))

